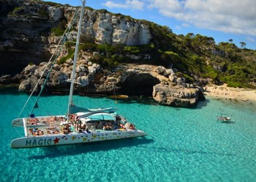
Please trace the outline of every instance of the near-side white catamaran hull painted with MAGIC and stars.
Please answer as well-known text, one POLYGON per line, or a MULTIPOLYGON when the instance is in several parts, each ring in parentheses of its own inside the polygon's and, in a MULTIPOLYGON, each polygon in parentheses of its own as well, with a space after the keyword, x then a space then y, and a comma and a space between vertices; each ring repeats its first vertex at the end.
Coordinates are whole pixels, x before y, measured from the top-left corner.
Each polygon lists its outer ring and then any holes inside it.
POLYGON ((70 145, 92 143, 105 140, 118 140, 132 137, 143 137, 146 133, 140 130, 115 130, 91 133, 48 134, 35 137, 20 137, 12 140, 12 148, 33 148, 52 145, 70 145))

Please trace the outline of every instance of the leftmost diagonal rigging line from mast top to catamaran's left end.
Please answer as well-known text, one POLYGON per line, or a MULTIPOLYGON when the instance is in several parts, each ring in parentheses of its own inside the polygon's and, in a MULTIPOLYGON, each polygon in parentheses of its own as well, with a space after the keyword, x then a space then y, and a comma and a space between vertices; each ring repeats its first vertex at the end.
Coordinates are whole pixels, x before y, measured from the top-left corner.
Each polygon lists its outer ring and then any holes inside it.
MULTIPOLYGON (((78 10, 79 10, 79 7, 75 10, 75 13, 74 13, 74 15, 73 15, 73 17, 72 17, 72 21, 71 21, 71 23, 69 23, 69 25, 67 26, 67 29, 64 31, 64 34, 66 34, 67 31, 70 31, 72 24, 75 22, 75 20, 74 20, 74 19, 75 19, 75 16, 78 15, 78 10)), ((56 49, 54 50, 52 56, 50 56, 50 59, 49 59, 49 61, 48 61, 48 64, 50 64, 50 61, 52 60, 53 56, 54 56, 55 53, 57 52, 57 51, 56 51, 57 48, 58 48, 59 45, 61 44, 61 41, 64 39, 64 34, 63 34, 63 36, 61 37, 61 39, 59 40, 59 43, 58 43, 58 45, 56 46, 56 49)), ((25 103, 25 105, 23 106, 23 108, 21 109, 21 111, 20 111, 20 113, 18 114, 18 117, 17 117, 17 118, 19 118, 20 115, 21 115, 21 113, 23 113, 23 110, 25 109, 26 105, 28 104, 29 100, 31 99, 31 96, 34 94, 34 91, 36 90, 36 88, 37 88, 37 86, 38 86, 38 84, 39 84, 39 81, 42 79, 42 76, 44 75, 44 73, 45 73, 45 71, 46 71, 47 68, 48 68, 48 67, 45 67, 45 70, 42 72, 42 75, 39 77, 39 80, 37 81, 36 86, 34 86, 33 91, 31 91, 31 94, 29 95, 29 98, 26 100, 26 103, 25 103)))

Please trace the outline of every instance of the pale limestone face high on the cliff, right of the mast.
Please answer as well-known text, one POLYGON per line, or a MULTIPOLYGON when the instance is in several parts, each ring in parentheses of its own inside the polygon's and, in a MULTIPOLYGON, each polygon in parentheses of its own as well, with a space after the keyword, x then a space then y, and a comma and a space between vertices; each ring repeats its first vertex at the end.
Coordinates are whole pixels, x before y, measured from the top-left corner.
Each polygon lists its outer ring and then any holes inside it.
POLYGON ((83 32, 94 36, 99 44, 144 45, 151 34, 140 20, 127 20, 108 12, 86 10, 83 32))

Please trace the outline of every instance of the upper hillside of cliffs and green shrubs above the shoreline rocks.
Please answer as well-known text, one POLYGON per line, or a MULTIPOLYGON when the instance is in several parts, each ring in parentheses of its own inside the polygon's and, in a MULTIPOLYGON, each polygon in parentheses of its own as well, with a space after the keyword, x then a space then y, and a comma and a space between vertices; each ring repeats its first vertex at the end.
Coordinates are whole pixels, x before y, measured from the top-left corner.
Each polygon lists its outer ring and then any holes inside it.
MULTIPOLYGON (((0 3, 0 12, 1 76, 15 75, 27 64, 48 61, 75 7, 5 0, 0 3)), ((230 87, 256 88, 256 51, 244 48, 244 44, 238 48, 232 39, 216 44, 212 37, 177 35, 167 26, 87 7, 81 43, 80 49, 91 53, 90 61, 102 67, 162 65, 187 83, 207 78, 230 87)), ((59 64, 72 58, 73 49, 70 38, 59 64)))

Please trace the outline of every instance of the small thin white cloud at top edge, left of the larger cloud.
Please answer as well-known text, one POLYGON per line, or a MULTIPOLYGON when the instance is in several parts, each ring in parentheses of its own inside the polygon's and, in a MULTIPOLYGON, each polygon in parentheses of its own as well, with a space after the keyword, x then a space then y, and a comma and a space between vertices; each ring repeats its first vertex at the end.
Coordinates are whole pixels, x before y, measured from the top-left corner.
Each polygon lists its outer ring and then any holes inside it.
POLYGON ((124 8, 130 10, 143 10, 144 2, 140 0, 126 0, 124 3, 116 3, 114 1, 107 1, 105 4, 109 8, 124 8))

